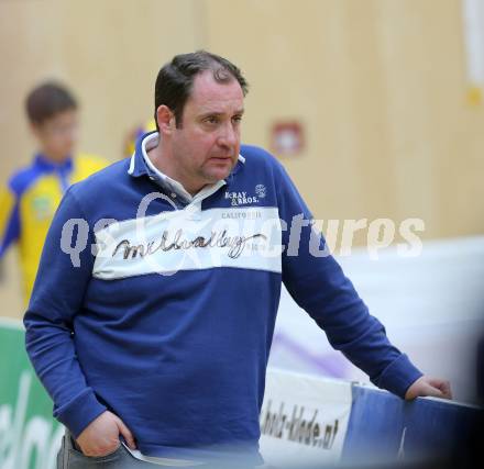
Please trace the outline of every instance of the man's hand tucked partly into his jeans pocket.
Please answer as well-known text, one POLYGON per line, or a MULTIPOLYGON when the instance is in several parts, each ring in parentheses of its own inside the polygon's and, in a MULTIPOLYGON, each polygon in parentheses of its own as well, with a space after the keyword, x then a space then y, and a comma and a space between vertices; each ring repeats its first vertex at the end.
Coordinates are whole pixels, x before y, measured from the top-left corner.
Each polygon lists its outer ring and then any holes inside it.
POLYGON ((112 412, 106 411, 95 418, 76 439, 86 456, 106 456, 116 451, 123 435, 129 447, 135 449, 134 438, 122 420, 112 412))

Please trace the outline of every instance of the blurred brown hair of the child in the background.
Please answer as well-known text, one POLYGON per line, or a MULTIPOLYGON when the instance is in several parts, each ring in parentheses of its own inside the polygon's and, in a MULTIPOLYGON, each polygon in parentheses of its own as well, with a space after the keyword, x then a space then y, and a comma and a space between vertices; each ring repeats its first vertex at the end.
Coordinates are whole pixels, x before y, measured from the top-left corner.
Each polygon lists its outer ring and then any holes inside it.
POLYGON ((25 100, 26 115, 34 124, 42 124, 61 112, 76 109, 77 101, 73 94, 53 81, 34 88, 25 100))

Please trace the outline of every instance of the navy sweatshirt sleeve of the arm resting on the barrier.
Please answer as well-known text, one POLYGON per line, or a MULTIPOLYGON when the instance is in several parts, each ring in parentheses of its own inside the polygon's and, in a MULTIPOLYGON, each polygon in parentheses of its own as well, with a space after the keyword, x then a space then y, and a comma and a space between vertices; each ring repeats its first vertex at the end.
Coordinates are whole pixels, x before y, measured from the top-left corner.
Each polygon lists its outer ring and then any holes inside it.
POLYGON ((311 225, 309 209, 282 165, 276 165, 279 213, 287 224, 283 231, 284 284, 326 332, 333 348, 369 375, 375 386, 404 398, 421 371, 391 344, 383 324, 369 313, 337 260, 324 253, 324 238, 311 225))

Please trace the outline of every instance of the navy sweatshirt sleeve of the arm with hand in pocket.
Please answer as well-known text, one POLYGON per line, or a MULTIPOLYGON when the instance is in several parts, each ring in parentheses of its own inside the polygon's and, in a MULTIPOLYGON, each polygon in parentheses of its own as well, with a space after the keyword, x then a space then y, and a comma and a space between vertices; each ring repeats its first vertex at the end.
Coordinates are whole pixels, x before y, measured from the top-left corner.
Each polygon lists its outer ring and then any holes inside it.
POLYGON ((54 401, 54 417, 77 438, 107 409, 86 382, 73 340, 73 319, 81 309, 94 264, 94 234, 74 188, 64 196, 47 233, 23 323, 26 351, 54 401), (84 250, 72 256, 70 248, 82 245, 84 250))

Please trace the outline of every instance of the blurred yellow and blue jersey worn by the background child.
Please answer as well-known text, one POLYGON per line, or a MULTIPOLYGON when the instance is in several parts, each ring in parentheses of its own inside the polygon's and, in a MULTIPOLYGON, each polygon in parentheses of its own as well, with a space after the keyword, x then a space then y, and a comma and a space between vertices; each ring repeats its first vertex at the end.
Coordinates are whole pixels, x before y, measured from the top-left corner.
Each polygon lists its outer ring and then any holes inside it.
POLYGON ((79 154, 56 164, 37 154, 16 171, 0 193, 0 258, 13 243, 19 246, 25 302, 32 292, 45 237, 66 189, 109 161, 79 154))

